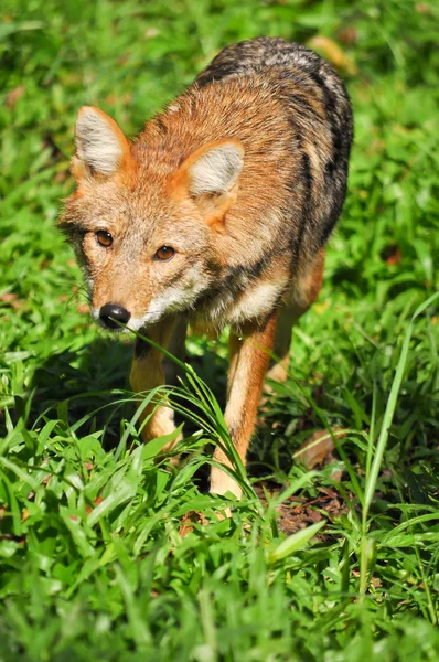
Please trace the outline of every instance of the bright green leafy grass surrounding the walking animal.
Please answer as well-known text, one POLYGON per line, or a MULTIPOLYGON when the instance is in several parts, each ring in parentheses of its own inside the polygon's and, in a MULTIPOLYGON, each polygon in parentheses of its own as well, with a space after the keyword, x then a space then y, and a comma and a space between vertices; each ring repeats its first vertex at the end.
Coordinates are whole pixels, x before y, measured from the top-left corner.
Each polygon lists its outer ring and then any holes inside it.
MULTIPOLYGON (((2 12, 0 660, 436 662, 437 4, 4 0, 2 12), (202 421, 186 423, 180 473, 157 461, 127 391, 130 343, 92 325, 54 224, 82 104, 135 135, 222 46, 264 33, 342 47, 355 146, 324 289, 295 330, 246 496, 218 521, 226 500, 200 490, 205 441, 228 441, 215 398, 193 376, 175 394, 202 421), (307 473, 293 453, 334 427, 349 430, 336 459, 307 473), (260 502, 263 479, 286 492, 260 502), (282 500, 328 491, 343 508, 314 506, 318 538, 279 530, 282 500), (182 536, 191 511, 204 523, 182 536)), ((221 401, 224 342, 190 350, 221 401)))

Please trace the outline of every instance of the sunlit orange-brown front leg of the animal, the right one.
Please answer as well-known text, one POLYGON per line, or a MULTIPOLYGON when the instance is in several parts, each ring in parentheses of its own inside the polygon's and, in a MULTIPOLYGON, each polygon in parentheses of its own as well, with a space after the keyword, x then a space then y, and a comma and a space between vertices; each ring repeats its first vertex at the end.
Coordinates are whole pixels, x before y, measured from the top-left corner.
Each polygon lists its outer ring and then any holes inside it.
MULTIPOLYGON (((231 331, 231 365, 227 381, 227 406, 225 420, 242 461, 245 461, 251 433, 255 427, 256 412, 265 372, 272 351, 277 321, 277 310, 264 323, 247 322, 239 334, 231 331)), ((214 459, 231 467, 226 455, 216 448, 214 459)), ((240 488, 224 471, 212 468, 211 492, 225 494, 232 492, 240 496, 240 488)))

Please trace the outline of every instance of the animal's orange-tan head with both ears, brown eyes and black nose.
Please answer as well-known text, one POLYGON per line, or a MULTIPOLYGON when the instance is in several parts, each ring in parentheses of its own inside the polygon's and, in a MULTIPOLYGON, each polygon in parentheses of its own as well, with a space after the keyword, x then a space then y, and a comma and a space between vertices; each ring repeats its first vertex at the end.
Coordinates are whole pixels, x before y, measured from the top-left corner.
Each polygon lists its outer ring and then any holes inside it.
POLYGON ((139 330, 193 308, 225 267, 217 239, 236 200, 242 145, 169 153, 157 141, 131 143, 93 107, 79 110, 75 141, 77 188, 60 226, 85 273, 93 318, 139 330))

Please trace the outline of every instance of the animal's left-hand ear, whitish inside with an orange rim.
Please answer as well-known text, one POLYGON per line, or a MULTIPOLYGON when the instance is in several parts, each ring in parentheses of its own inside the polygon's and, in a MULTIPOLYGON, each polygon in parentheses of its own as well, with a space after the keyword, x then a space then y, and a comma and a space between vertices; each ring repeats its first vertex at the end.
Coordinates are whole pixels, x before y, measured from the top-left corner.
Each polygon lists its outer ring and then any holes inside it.
POLYGON ((76 154, 72 172, 76 179, 114 174, 130 158, 130 143, 106 113, 83 106, 75 125, 76 154))

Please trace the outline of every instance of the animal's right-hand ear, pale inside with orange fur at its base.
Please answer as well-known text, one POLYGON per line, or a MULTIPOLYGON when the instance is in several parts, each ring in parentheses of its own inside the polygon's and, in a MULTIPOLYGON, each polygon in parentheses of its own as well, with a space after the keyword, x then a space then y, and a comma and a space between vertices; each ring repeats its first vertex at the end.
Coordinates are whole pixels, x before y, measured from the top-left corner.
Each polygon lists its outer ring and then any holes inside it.
POLYGON ((188 157, 173 184, 183 186, 206 221, 220 220, 236 200, 243 166, 244 148, 238 140, 208 142, 188 157))

